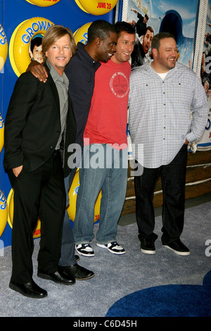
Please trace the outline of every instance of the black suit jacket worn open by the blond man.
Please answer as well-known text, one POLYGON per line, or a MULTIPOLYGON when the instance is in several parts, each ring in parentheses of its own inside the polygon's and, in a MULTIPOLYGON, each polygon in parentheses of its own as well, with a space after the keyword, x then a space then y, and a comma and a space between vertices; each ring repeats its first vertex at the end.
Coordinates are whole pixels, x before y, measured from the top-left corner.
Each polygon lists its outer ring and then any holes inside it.
MULTIPOLYGON (((36 170, 56 148, 60 135, 59 97, 48 66, 45 68, 49 74, 46 83, 39 82, 30 72, 20 75, 15 83, 4 127, 6 170, 19 165, 23 165, 27 172, 36 170)), ((70 101, 67 135, 66 144, 74 143, 75 118, 70 101)))

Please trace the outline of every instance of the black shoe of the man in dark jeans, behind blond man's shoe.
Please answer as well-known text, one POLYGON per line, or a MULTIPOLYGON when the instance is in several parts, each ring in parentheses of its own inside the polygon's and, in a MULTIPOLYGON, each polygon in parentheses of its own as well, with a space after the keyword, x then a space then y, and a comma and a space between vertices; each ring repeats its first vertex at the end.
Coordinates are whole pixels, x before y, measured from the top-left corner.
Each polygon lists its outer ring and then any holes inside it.
POLYGON ((68 267, 58 266, 58 268, 65 275, 74 277, 75 280, 89 280, 89 278, 94 277, 93 271, 79 266, 77 263, 75 263, 73 266, 68 267))

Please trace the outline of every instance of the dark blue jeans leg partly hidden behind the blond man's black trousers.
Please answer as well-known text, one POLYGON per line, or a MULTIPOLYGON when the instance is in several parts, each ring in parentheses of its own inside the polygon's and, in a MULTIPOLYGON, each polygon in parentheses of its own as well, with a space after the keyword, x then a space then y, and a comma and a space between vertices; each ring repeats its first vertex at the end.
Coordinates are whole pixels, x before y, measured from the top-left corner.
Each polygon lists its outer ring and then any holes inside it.
MULTIPOLYGON (((75 169, 72 169, 68 177, 65 177, 65 193, 66 193, 66 207, 69 205, 68 191, 75 175, 75 169)), ((71 203, 71 201, 70 201, 71 203)), ((59 266, 72 266, 76 263, 75 259, 75 240, 72 234, 70 219, 67 209, 65 210, 65 217, 63 221, 63 236, 60 250, 59 266)))

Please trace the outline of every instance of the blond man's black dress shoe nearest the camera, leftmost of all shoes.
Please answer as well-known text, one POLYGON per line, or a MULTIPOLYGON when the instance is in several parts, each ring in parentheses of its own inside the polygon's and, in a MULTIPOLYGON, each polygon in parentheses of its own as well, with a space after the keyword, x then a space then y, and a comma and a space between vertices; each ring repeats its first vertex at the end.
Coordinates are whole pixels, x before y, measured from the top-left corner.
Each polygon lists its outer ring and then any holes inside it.
POLYGON ((26 284, 19 284, 17 282, 10 281, 9 287, 24 296, 29 298, 40 299, 48 295, 45 289, 41 289, 34 280, 27 282, 26 284))

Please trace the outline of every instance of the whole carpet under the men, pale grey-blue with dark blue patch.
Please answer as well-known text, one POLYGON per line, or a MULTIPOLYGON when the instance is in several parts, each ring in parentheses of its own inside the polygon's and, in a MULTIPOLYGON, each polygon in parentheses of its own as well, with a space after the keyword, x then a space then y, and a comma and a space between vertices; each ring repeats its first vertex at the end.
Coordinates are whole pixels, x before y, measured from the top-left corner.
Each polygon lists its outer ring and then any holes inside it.
MULTIPOLYGON (((129 220, 136 221, 135 215, 130 215, 129 220)), ((126 254, 110 254, 106 249, 96 246, 94 237, 91 246, 94 248, 95 256, 81 256, 79 265, 93 270, 95 276, 90 280, 77 281, 75 285, 68 287, 37 277, 40 241, 36 239, 32 257, 34 281, 48 292, 48 296, 41 300, 27 298, 8 287, 12 269, 11 246, 5 247, 4 256, 0 256, 0 316, 70 317, 79 322, 95 318, 105 320, 108 313, 107 316, 112 317, 107 317, 106 320, 118 321, 125 320, 126 316, 137 316, 134 317, 137 327, 139 323, 140 327, 145 327, 145 320, 141 316, 159 316, 155 319, 146 317, 150 318, 150 327, 153 327, 152 321, 155 321, 157 328, 160 321, 163 325, 164 316, 211 316, 211 293, 208 294, 211 292, 211 247, 207 247, 211 239, 210 220, 211 202, 186 209, 181 241, 191 250, 189 256, 178 256, 162 246, 161 215, 155 219, 158 240, 155 243, 156 254, 152 255, 141 253, 136 223, 118 225, 117 242, 124 247, 126 254)), ((95 235, 97 231, 98 224, 95 224, 95 235)), ((180 330, 184 326, 181 318, 173 317, 173 323, 172 318, 171 321, 167 319, 165 327, 176 327, 177 323, 180 323, 180 330)), ((194 320, 194 327, 196 323, 200 324, 198 330, 203 327, 202 318, 190 319, 194 320)), ((113 327, 119 326, 129 325, 113 324, 113 327)), ((190 328, 189 318, 188 327, 190 328)), ((88 329, 90 328, 91 325, 88 329)))

